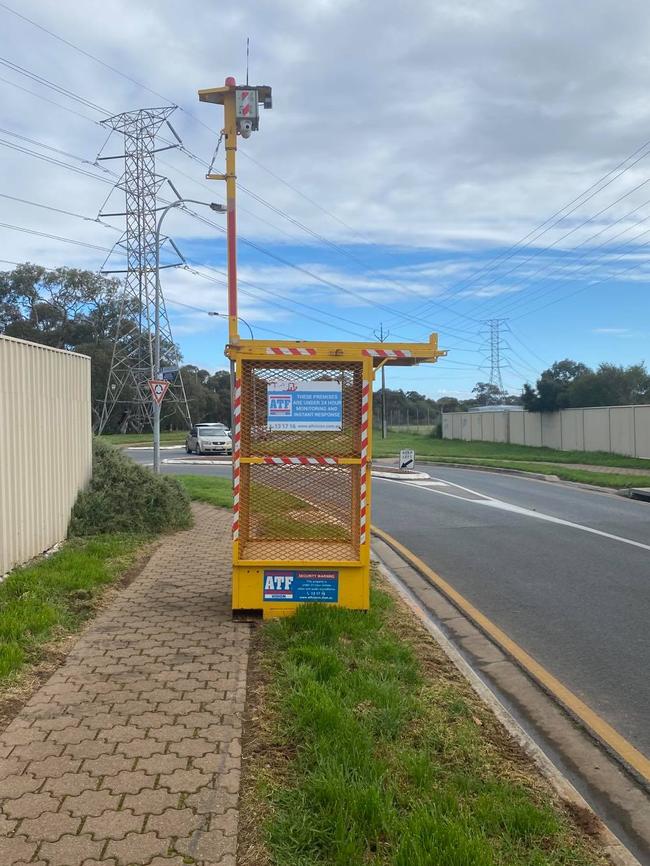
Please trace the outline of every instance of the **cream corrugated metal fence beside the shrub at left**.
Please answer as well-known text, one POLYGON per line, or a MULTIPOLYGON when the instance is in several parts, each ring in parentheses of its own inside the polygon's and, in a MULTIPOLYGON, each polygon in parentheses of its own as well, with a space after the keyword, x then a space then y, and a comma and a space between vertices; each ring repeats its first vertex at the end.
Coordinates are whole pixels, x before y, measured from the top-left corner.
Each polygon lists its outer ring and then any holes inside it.
POLYGON ((90 358, 0 336, 0 575, 65 538, 91 469, 90 358))

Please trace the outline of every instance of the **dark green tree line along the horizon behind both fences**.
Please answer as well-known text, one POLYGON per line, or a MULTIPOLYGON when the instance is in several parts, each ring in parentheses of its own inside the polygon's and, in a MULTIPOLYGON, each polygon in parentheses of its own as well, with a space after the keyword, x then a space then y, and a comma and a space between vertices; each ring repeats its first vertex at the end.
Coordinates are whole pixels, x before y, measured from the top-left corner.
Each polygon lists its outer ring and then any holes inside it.
MULTIPOLYGON (((89 355, 92 369, 92 406, 99 421, 106 392, 113 343, 122 316, 138 316, 123 306, 120 283, 76 268, 48 270, 29 263, 0 272, 0 333, 89 355)), ((175 347, 177 357, 180 350, 175 347)), ((210 373, 191 364, 180 374, 194 423, 230 420, 230 379, 225 370, 210 373)), ((381 390, 375 392, 374 422, 381 419, 381 390)), ((128 390, 125 399, 129 398, 128 390)), ((650 374, 643 363, 630 366, 600 364, 596 369, 578 361, 557 361, 544 370, 535 386, 521 394, 504 394, 489 382, 477 382, 472 396, 443 396, 437 400, 415 390, 386 389, 389 426, 434 426, 442 412, 459 412, 494 404, 523 405, 533 412, 583 406, 621 406, 650 402, 650 374)), ((180 411, 164 420, 165 429, 182 429, 180 411)), ((118 430, 112 418, 109 432, 118 430)))

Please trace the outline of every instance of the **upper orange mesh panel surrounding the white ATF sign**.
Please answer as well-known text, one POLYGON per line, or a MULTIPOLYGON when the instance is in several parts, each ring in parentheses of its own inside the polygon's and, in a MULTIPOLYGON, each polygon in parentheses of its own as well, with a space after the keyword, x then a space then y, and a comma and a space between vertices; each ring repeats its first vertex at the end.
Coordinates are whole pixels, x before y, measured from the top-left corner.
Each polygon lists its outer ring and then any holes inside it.
POLYGON ((323 361, 244 361, 242 375, 242 456, 312 455, 355 457, 360 448, 362 364, 323 361), (339 382, 341 430, 275 430, 269 427, 267 391, 271 382, 339 382))

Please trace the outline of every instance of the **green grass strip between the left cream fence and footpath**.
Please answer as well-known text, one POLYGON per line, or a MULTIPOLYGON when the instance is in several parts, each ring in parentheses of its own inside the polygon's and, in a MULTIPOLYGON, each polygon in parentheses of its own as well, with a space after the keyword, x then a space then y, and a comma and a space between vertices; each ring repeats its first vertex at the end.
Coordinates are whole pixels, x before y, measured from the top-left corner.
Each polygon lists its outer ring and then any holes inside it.
POLYGON ((77 631, 145 540, 134 534, 77 538, 7 575, 0 583, 0 683, 14 681, 25 665, 38 662, 47 641, 77 631))

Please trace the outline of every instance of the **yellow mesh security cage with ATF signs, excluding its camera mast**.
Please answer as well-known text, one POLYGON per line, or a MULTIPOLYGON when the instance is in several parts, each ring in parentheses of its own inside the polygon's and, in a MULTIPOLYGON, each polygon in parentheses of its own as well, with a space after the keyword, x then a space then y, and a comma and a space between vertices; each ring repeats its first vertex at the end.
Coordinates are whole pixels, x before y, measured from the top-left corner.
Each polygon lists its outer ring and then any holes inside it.
POLYGON ((374 372, 444 354, 437 335, 227 347, 235 616, 288 616, 314 602, 368 609, 374 372))

